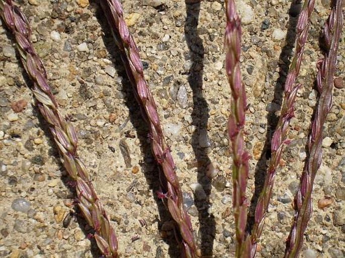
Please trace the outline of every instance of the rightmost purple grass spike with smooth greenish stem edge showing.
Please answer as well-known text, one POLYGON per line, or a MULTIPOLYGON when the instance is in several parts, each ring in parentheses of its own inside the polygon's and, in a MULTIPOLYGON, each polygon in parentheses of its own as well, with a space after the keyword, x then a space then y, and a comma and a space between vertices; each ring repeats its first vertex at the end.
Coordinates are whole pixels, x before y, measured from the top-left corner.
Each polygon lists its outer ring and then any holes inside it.
POLYGON ((308 158, 301 177, 300 189, 295 196, 295 221, 287 241, 285 258, 294 258, 299 255, 303 244, 303 234, 312 213, 311 194, 317 170, 322 162, 322 127, 332 107, 333 74, 343 26, 343 5, 343 0, 337 0, 334 3, 324 27, 326 53, 317 65, 319 100, 308 139, 308 158))

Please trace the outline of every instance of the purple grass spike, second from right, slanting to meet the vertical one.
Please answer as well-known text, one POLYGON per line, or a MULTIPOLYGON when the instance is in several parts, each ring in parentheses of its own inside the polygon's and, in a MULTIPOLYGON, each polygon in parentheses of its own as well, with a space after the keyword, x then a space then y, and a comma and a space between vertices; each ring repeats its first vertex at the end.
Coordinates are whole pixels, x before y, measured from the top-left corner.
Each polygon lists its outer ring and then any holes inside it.
POLYGON ((262 233, 264 219, 267 214, 269 200, 272 196, 275 171, 279 166, 284 144, 287 142, 287 134, 290 120, 294 117, 295 98, 300 84, 296 83, 304 53, 304 45, 308 37, 310 16, 314 9, 315 0, 305 0, 297 22, 296 50, 285 83, 285 98, 281 116, 272 137, 271 159, 267 169, 265 182, 260 193, 256 208, 254 226, 251 232, 252 254, 255 256, 257 241, 262 233))

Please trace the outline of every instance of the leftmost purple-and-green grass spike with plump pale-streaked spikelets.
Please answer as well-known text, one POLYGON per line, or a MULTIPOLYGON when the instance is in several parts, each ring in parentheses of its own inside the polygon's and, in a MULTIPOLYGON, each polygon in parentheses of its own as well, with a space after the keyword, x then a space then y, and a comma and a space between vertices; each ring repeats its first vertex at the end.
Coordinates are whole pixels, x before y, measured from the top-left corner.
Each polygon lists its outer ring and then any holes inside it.
POLYGON ((95 230, 95 240, 106 258, 116 258, 117 238, 115 231, 98 199, 84 163, 77 154, 77 133, 70 121, 63 118, 48 85, 42 61, 31 42, 31 30, 23 12, 11 0, 0 0, 0 13, 5 24, 16 38, 22 63, 34 82, 32 89, 37 106, 49 124, 49 129, 58 147, 61 162, 68 175, 76 182, 78 207, 88 224, 95 230))

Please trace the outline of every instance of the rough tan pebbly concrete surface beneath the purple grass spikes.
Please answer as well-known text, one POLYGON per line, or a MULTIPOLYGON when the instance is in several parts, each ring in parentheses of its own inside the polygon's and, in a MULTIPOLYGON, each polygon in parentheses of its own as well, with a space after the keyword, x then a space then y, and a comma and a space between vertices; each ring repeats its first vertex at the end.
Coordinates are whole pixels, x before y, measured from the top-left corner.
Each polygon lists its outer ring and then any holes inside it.
MULTIPOLYGON (((237 2, 249 104, 250 200, 262 182, 267 131, 279 115, 299 6, 290 7, 287 0, 237 2)), ((179 257, 172 221, 156 194, 158 173, 148 129, 98 2, 16 3, 30 17, 32 40, 62 113, 78 130, 79 156, 118 234, 121 256, 179 257)), ((298 80, 303 87, 290 126, 292 142, 278 169, 257 257, 282 257, 290 231, 317 101, 313 83, 320 57, 318 35, 328 14, 322 3, 316 1, 311 18, 298 80)), ((186 8, 180 0, 124 0, 123 7, 177 164, 198 246, 205 257, 234 257, 224 2, 186 8)), ((90 229, 73 209, 75 195, 34 105, 13 37, 0 25, 0 257, 98 257, 95 241, 87 237, 90 229)), ((344 35, 303 257, 345 255, 344 35)))

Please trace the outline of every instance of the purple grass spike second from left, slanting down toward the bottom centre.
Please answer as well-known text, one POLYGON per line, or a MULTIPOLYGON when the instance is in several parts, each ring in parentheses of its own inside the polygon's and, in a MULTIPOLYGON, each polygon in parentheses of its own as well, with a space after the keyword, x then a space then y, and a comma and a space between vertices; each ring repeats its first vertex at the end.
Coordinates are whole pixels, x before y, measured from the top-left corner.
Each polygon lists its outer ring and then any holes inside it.
POLYGON ((142 107, 144 119, 150 127, 151 148, 156 161, 161 165, 162 196, 172 218, 176 221, 183 246, 182 255, 196 257, 193 229, 189 215, 183 207, 180 184, 175 172, 175 164, 169 146, 164 139, 156 103, 144 78, 144 69, 139 51, 123 19, 122 6, 118 0, 101 0, 102 9, 107 17, 117 47, 121 52, 127 75, 133 86, 137 101, 142 107))

